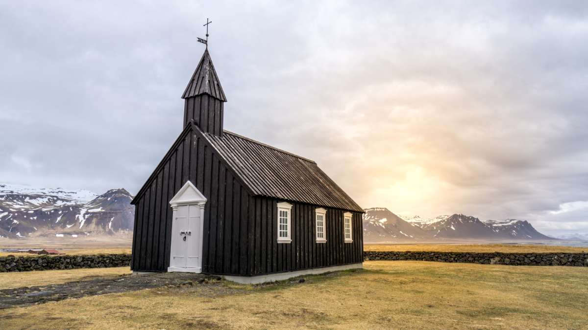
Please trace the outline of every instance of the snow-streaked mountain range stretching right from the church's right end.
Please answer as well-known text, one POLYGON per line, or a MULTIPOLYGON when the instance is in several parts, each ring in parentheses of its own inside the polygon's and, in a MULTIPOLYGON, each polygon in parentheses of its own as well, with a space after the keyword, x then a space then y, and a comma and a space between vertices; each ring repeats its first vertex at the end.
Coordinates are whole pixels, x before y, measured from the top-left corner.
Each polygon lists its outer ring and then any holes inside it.
POLYGON ((415 241, 538 241, 554 240, 526 220, 482 221, 463 214, 403 219, 387 208, 367 208, 363 215, 365 243, 415 241))

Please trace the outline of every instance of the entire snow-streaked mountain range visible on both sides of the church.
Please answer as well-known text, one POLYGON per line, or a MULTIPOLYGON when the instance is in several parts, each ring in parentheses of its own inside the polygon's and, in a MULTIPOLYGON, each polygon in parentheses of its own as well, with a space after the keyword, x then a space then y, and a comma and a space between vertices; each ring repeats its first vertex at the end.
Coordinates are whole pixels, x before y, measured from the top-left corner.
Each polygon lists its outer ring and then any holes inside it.
MULTIPOLYGON (((123 188, 87 190, 0 184, 0 237, 79 237, 131 234, 133 196, 123 188)), ((463 214, 401 218, 387 208, 363 215, 366 243, 553 240, 527 221, 487 220, 463 214)))

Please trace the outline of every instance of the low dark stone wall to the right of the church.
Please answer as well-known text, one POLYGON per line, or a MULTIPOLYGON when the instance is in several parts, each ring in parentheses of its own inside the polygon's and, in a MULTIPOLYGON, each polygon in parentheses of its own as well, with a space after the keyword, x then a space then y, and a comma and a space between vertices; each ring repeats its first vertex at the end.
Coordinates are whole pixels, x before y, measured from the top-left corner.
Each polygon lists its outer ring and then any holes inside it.
POLYGON ((478 253, 364 251, 365 260, 419 260, 491 265, 588 267, 588 253, 478 253))

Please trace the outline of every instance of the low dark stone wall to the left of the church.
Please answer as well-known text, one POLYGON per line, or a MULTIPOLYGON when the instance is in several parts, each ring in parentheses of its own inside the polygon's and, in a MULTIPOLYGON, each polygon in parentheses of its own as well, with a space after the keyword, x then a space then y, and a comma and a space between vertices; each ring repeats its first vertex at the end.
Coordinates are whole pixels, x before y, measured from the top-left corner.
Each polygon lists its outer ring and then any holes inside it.
POLYGON ((74 268, 123 267, 131 264, 131 254, 35 255, 0 257, 0 272, 71 270, 74 268))

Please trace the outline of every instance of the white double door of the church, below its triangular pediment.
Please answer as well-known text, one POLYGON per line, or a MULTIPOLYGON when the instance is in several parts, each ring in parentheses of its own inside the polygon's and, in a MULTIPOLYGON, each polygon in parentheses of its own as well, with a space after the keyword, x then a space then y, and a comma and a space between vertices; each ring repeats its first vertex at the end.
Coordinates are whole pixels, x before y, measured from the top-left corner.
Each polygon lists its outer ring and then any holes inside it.
POLYGON ((200 272, 202 265, 202 209, 198 204, 174 210, 168 271, 200 272))

